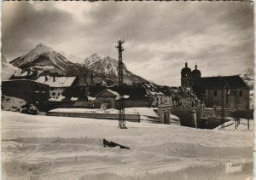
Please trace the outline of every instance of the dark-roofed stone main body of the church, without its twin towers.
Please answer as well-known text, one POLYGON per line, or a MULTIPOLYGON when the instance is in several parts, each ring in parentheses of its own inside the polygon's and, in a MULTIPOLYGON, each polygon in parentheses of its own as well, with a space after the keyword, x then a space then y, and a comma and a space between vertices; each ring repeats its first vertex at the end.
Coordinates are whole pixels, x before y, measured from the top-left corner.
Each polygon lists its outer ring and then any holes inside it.
POLYGON ((249 87, 239 75, 198 78, 194 82, 195 93, 203 98, 206 107, 246 109, 249 87))

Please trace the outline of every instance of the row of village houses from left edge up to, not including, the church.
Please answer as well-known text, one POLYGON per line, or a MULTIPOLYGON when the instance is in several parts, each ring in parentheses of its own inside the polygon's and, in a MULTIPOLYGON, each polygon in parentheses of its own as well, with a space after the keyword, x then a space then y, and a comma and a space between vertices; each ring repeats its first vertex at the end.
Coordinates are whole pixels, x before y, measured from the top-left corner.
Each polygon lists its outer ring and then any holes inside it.
POLYGON ((151 83, 124 85, 80 85, 79 77, 44 75, 35 80, 11 79, 3 81, 2 93, 32 103, 40 110, 56 107, 119 108, 119 95, 125 107, 195 107, 195 95, 182 88, 151 83))

